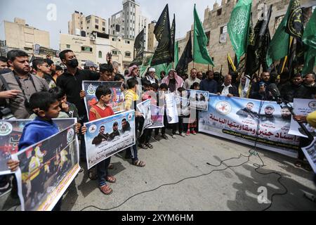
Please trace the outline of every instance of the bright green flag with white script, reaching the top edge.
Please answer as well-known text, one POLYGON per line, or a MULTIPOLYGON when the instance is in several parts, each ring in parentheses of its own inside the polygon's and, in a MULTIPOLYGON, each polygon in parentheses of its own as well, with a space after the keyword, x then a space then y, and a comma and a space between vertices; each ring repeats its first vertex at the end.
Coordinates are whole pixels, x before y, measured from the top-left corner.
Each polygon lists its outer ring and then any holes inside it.
POLYGON ((239 0, 230 16, 230 22, 227 25, 232 48, 237 55, 239 63, 240 58, 246 52, 248 45, 248 31, 250 23, 251 0, 239 0))

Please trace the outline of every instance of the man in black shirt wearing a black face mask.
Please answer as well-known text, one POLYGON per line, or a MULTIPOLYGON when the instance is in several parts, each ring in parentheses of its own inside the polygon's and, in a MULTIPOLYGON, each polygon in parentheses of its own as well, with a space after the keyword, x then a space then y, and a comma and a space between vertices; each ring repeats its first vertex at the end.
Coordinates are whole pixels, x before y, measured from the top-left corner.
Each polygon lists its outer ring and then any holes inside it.
MULTIPOLYGON (((82 90, 82 81, 94 81, 100 79, 100 74, 91 70, 79 70, 79 62, 72 50, 65 50, 59 54, 60 60, 67 67, 60 77, 57 78, 57 86, 65 91, 67 101, 76 105, 81 124, 88 122, 86 107, 84 105, 85 91, 82 90)), ((85 160, 86 145, 81 136, 80 158, 85 160)))

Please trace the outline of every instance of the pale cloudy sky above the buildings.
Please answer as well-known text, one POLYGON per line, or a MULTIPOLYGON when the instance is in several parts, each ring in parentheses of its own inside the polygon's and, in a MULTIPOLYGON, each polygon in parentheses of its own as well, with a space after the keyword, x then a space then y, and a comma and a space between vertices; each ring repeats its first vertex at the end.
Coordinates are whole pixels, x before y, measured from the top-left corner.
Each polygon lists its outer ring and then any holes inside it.
MULTIPOLYGON (((207 6, 213 8, 216 0, 136 0, 140 5, 142 14, 149 22, 158 20, 164 10, 164 6, 169 4, 170 20, 172 22, 173 13, 176 14, 176 39, 185 37, 187 31, 193 23, 193 7, 197 4, 197 12, 200 20, 203 21, 204 10, 207 6)), ((220 4, 220 1, 218 0, 220 4)), ((98 15, 108 19, 114 13, 123 8, 122 0, 11 0, 0 1, 0 39, 4 39, 4 20, 13 22, 15 17, 26 20, 29 26, 39 30, 50 32, 51 48, 59 49, 59 33, 68 33, 68 21, 74 11, 84 13, 84 15, 98 15), (51 10, 51 4, 56 6, 56 20, 48 20, 47 15, 51 10)))

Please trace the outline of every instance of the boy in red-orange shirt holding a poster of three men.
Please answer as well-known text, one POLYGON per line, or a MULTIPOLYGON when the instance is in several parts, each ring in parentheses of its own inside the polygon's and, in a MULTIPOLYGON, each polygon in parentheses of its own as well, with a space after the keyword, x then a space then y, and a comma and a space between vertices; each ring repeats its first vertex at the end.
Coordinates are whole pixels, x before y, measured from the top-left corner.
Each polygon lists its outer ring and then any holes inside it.
MULTIPOLYGON (((110 106, 107 106, 107 104, 110 103, 111 95, 111 90, 108 89, 106 86, 98 86, 98 88, 96 89, 96 97, 98 98, 98 103, 96 103, 96 105, 93 105, 93 107, 90 109, 90 121, 99 120, 101 118, 114 115, 112 108, 110 106)), ((110 176, 109 174, 108 167, 110 165, 110 162, 111 158, 107 158, 106 160, 99 162, 96 166, 99 188, 100 191, 105 195, 110 195, 113 192, 106 182, 113 184, 117 181, 114 176, 110 176)))

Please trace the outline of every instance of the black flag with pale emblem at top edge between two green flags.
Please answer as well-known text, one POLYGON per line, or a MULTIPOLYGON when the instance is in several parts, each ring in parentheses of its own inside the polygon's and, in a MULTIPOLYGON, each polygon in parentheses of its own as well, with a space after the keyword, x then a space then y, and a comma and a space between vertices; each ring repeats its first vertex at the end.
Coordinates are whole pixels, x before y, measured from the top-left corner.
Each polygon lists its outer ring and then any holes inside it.
POLYGON ((292 0, 291 12, 287 19, 286 32, 293 37, 301 39, 303 36, 303 10, 301 8, 300 0, 292 0))

